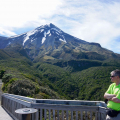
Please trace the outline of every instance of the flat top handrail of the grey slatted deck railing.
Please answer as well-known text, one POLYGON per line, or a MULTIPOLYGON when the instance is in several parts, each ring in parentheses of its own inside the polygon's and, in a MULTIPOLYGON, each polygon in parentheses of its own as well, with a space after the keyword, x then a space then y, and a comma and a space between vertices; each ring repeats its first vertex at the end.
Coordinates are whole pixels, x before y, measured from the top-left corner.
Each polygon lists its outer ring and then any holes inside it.
POLYGON ((103 101, 88 101, 88 100, 60 100, 60 99, 34 99, 24 96, 4 93, 4 95, 15 97, 17 99, 25 100, 34 103, 49 103, 49 104, 66 104, 66 105, 88 105, 88 106, 102 106, 106 107, 103 101))

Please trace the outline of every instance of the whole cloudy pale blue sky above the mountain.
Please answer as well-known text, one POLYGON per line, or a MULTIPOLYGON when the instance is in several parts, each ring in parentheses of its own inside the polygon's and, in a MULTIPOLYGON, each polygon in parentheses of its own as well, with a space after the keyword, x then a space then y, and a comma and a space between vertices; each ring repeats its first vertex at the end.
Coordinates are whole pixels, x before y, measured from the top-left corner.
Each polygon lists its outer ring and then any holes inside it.
POLYGON ((0 0, 1 36, 49 23, 120 54, 120 0, 0 0))

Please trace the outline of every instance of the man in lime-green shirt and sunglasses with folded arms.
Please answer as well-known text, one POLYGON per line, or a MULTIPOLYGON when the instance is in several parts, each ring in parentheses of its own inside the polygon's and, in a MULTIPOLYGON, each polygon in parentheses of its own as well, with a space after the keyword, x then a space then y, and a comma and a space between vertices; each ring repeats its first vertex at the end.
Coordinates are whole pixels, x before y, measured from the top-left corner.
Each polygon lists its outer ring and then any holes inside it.
MULTIPOLYGON (((104 98, 108 99, 107 107, 108 109, 120 111, 120 70, 114 70, 111 72, 111 81, 113 82, 106 93, 104 98)), ((111 114, 111 113, 110 113, 111 114)), ((120 120, 120 113, 117 116, 107 115, 106 120, 120 120)))

